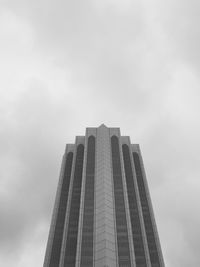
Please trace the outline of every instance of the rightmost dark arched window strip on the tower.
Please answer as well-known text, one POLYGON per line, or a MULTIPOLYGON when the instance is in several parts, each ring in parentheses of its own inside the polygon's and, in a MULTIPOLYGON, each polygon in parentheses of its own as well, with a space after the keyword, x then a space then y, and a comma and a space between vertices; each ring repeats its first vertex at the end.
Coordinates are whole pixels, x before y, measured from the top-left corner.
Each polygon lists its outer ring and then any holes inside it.
POLYGON ((135 164, 136 176, 137 176, 137 184, 140 194, 140 201, 142 205, 142 213, 145 225, 145 231, 147 236, 147 243, 149 248, 149 255, 151 260, 152 267, 160 267, 158 249, 155 240, 155 233, 153 229, 153 223, 151 218, 151 213, 149 210, 148 199, 146 195, 146 189, 144 184, 144 178, 142 174, 142 168, 140 163, 140 158, 137 152, 133 152, 133 159, 135 164))

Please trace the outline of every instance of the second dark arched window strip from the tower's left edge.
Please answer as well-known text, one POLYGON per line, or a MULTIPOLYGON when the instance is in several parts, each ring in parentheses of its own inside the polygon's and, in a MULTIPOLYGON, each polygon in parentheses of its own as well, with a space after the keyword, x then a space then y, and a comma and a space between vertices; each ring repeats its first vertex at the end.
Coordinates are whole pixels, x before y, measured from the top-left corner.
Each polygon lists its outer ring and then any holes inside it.
POLYGON ((78 235, 78 222, 80 210, 80 196, 82 184, 84 146, 77 147, 74 181, 72 187, 71 206, 69 211, 69 223, 67 229, 67 240, 65 247, 64 266, 74 267, 76 264, 76 248, 78 235))

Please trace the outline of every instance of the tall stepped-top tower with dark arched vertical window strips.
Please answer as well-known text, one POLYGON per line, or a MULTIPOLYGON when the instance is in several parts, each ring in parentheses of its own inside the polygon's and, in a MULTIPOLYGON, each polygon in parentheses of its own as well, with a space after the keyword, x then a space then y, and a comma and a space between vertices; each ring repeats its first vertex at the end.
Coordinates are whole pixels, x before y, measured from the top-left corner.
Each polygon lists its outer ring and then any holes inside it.
POLYGON ((87 128, 66 145, 44 267, 164 267, 139 145, 87 128))

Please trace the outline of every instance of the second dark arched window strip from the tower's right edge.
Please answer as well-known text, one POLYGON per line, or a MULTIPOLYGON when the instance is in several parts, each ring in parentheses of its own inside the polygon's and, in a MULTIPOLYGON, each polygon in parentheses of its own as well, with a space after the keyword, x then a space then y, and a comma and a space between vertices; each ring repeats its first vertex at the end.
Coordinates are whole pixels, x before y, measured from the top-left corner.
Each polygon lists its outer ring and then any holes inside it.
POLYGON ((139 208, 136 198, 136 189, 133 178, 133 170, 131 166, 130 151, 127 145, 122 146, 124 168, 126 175, 126 186, 128 193, 129 211, 131 219, 131 227, 133 233, 133 245, 135 251, 135 261, 137 267, 147 266, 144 243, 142 238, 141 222, 139 217, 139 208))

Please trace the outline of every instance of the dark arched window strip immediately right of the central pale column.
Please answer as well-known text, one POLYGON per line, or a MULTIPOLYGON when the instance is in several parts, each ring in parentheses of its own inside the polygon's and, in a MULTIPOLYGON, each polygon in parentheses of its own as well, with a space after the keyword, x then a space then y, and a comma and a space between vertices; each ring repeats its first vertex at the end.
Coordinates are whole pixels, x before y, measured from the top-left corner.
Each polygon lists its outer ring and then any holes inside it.
POLYGON ((131 266, 128 228, 124 203, 122 170, 120 160, 119 141, 117 136, 111 137, 113 183, 115 196, 115 216, 117 229, 118 262, 120 267, 131 266))

